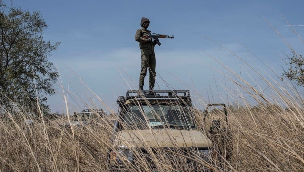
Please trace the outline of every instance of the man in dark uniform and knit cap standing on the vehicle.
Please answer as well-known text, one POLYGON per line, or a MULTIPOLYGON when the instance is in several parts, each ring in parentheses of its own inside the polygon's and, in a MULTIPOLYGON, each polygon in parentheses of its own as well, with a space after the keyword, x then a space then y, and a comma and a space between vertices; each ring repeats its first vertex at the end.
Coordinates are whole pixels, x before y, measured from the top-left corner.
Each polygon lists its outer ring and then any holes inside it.
POLYGON ((141 29, 138 29, 135 34, 135 41, 139 42, 139 49, 141 50, 141 58, 142 58, 142 68, 139 75, 139 87, 138 90, 142 91, 144 86, 145 76, 147 75, 147 68, 149 68, 149 90, 151 90, 150 94, 153 91, 154 83, 155 83, 155 53, 154 46, 156 45, 156 39, 152 42, 152 38, 142 38, 141 36, 150 35, 149 27, 150 21, 146 17, 142 17, 140 21, 141 29))

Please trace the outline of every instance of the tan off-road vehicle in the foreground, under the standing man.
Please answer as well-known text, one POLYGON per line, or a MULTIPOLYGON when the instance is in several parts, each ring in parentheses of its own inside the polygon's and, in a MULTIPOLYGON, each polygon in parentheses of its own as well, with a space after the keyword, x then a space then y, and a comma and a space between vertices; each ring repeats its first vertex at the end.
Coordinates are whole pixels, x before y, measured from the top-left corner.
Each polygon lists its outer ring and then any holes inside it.
POLYGON ((214 170, 213 143, 197 126, 189 90, 148 92, 118 97, 109 170, 214 170))

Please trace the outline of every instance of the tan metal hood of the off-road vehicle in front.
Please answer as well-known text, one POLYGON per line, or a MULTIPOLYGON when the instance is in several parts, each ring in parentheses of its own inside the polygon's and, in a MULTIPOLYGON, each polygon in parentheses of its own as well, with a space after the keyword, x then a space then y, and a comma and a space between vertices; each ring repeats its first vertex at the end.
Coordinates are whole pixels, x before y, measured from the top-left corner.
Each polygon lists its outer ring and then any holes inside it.
POLYGON ((115 147, 211 147, 212 142, 199 130, 122 130, 115 147))

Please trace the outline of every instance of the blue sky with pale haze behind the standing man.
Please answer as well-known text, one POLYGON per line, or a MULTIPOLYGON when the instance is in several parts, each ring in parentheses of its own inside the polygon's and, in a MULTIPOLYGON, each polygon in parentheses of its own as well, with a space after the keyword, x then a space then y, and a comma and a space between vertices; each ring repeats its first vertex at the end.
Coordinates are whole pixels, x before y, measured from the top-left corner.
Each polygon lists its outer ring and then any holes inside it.
MULTIPOLYGON (((10 4, 8 0, 4 2, 10 4)), ((283 53, 290 54, 290 49, 265 18, 302 54, 303 43, 281 16, 292 25, 303 25, 304 2, 300 0, 14 0, 13 4, 30 11, 40 10, 49 25, 44 38, 61 42, 50 57, 62 80, 62 86, 60 82, 56 85, 57 93, 48 99, 52 112, 65 112, 63 92, 72 112, 85 108, 81 101, 115 111, 117 96, 138 89, 141 62, 134 35, 140 28, 141 17, 150 19, 148 29, 152 32, 175 37, 161 39, 162 45, 155 47, 159 86, 156 87, 161 90, 195 90, 208 100, 216 86, 225 85, 227 79, 219 73, 227 71, 216 60, 244 79, 255 80, 256 74, 246 64, 212 40, 255 68, 267 66, 281 75, 283 53)), ((294 29, 302 35, 304 27, 294 26, 294 29)), ((145 89, 148 89, 147 78, 145 89)), ((259 84, 259 78, 255 82, 259 84)), ((215 101, 224 101, 216 97, 215 101)))

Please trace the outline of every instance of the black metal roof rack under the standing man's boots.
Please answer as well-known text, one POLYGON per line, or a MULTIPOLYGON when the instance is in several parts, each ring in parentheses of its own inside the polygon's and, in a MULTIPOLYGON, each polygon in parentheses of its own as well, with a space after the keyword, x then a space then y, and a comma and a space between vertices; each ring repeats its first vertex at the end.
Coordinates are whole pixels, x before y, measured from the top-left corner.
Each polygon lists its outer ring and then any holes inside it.
POLYGON ((146 95, 150 90, 142 90, 142 95, 138 94, 138 90, 127 90, 126 98, 181 98, 190 99, 189 90, 153 90, 154 95, 146 95))

